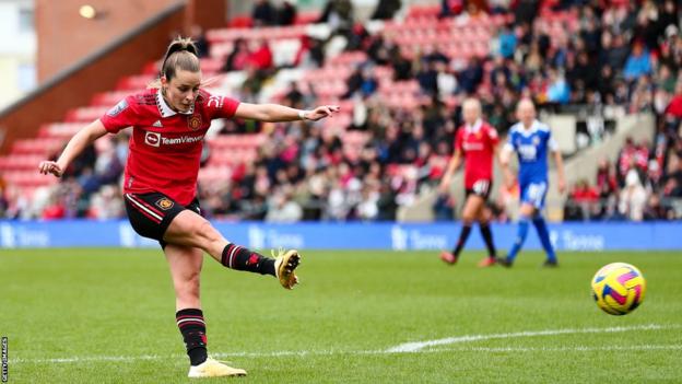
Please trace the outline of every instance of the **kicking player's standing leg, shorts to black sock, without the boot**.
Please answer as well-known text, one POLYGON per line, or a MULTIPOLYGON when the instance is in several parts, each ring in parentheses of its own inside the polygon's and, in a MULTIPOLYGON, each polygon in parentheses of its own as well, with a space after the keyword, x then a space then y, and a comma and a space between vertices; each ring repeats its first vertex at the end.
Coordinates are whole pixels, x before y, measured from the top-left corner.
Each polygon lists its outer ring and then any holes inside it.
POLYGON ((205 323, 199 300, 199 276, 203 252, 199 248, 167 244, 164 248, 175 288, 175 319, 191 365, 208 358, 205 323))

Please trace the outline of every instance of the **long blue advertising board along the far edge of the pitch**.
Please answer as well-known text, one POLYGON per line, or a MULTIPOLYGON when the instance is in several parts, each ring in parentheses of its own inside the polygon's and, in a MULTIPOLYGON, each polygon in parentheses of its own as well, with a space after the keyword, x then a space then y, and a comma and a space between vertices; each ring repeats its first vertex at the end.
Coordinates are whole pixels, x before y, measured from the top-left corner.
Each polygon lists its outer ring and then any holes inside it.
MULTIPOLYGON (((231 241, 251 248, 443 249, 450 248, 460 224, 214 222, 231 241)), ((495 242, 507 248, 516 225, 494 224, 495 242)), ((601 222, 550 224, 557 251, 682 251, 682 222, 601 222)), ((0 247, 156 247, 138 236, 128 221, 0 221, 0 247)), ((541 249, 536 234, 527 249, 541 249)), ((467 249, 484 249, 474 234, 467 249)))

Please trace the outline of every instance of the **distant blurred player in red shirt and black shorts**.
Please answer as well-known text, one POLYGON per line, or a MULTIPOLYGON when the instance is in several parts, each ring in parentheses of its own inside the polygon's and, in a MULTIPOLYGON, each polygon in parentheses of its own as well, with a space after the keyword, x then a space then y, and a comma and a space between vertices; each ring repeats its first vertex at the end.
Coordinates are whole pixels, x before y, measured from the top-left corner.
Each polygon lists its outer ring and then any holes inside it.
POLYGON ((448 264, 457 263, 459 253, 471 233, 471 224, 478 221, 489 252, 489 256, 482 259, 479 266, 487 267, 495 264, 496 257, 493 233, 490 229, 491 214, 485 207, 485 201, 493 184, 493 159, 498 137, 495 128, 481 119, 481 103, 478 100, 467 98, 462 103, 462 115, 465 125, 456 133, 455 155, 450 160, 439 186, 440 193, 446 194, 448 191, 452 174, 465 160, 467 200, 462 212, 462 230, 459 233, 455 249, 451 253, 443 251, 440 259, 448 264))

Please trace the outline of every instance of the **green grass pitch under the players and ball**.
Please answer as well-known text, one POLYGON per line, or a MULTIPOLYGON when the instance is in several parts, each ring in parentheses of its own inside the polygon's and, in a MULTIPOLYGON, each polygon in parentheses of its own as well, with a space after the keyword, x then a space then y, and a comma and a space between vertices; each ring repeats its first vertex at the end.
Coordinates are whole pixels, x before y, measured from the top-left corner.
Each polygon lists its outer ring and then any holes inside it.
MULTIPOLYGON (((302 254, 293 291, 205 258, 209 352, 249 372, 205 382, 682 382, 682 254, 564 253, 555 270, 539 253, 510 270, 480 253, 302 254), (589 294, 612 261, 647 279, 626 316, 589 294)), ((9 383, 187 383, 174 315, 160 251, 0 249, 9 383)))

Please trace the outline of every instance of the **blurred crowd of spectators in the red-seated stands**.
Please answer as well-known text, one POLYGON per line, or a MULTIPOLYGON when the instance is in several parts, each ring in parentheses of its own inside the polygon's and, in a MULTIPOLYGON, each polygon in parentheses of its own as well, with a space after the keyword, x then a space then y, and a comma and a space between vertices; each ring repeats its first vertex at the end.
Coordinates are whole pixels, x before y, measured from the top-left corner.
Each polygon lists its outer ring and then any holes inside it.
MULTIPOLYGON (((399 8, 399 0, 379 1, 372 18, 391 19, 399 8)), ((460 109, 450 106, 448 97, 475 95, 482 101, 484 116, 502 135, 515 121, 514 108, 520 97, 532 97, 552 110, 572 110, 579 105, 607 117, 616 110, 655 114, 656 137, 630 140, 615 163, 602 161, 595 178, 577 183, 568 194, 565 219, 680 218, 682 211, 673 203, 682 197, 678 12, 672 0, 623 5, 444 0, 440 18, 477 23, 485 13, 514 14, 513 22, 496 31, 486 57, 462 60, 434 46, 411 57, 390 34, 371 34, 357 23, 350 0, 331 0, 318 20, 331 25, 330 38, 304 37, 291 66, 324 66, 331 38, 344 39, 345 50, 367 53, 367 61, 356 66, 342 95, 355 105, 346 130, 367 135, 367 143, 350 155, 342 138, 319 124, 225 121, 222 135, 260 131, 268 140, 257 159, 237 165, 225 183, 200 188, 202 208, 208 216, 234 220, 393 220, 398 207, 412 203, 422 190, 433 187, 447 164, 461 121, 460 109), (546 23, 539 22, 541 8, 575 12, 577 31, 552 36, 546 23), (396 81, 416 80, 419 106, 387 106, 378 92, 376 66, 390 66, 396 81)), ((260 0, 251 16, 256 26, 290 25, 296 9, 289 1, 274 7, 260 0)), ((237 40, 223 67, 224 71, 246 71, 235 95, 243 101, 258 100, 279 69, 264 40, 255 47, 237 40)), ((301 89, 295 83, 280 100, 296 108, 309 108, 318 101, 314 86, 301 89)), ((589 140, 600 139, 591 133, 589 140)), ((43 193, 45 196, 23 203, 5 197, 4 216, 124 216, 118 183, 127 155, 125 136, 109 147, 98 155, 94 148, 89 149, 56 193, 43 193)), ((207 150, 207 159, 210 155, 207 150)), ((507 220, 503 207, 509 194, 501 190, 492 202, 497 220, 507 220)), ((455 206, 452 198, 439 197, 434 206, 436 218, 451 219, 455 206)))

